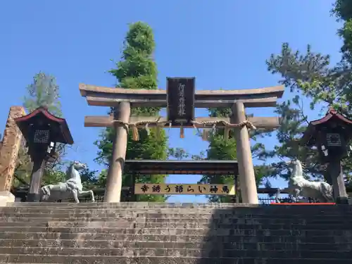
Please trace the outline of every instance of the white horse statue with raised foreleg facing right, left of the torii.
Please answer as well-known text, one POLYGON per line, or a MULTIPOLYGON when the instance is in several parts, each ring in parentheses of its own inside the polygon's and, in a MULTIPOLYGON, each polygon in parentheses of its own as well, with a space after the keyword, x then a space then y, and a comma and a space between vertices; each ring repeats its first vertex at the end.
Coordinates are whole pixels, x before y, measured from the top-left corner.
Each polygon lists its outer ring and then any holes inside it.
POLYGON ((80 163, 79 161, 73 161, 68 167, 66 173, 66 182, 59 182, 58 184, 45 185, 40 189, 41 201, 58 201, 73 197, 76 203, 80 200, 78 196, 80 194, 90 194, 92 202, 95 201, 94 193, 92 190, 83 191, 82 181, 80 173, 77 170, 87 168, 87 165, 80 163))

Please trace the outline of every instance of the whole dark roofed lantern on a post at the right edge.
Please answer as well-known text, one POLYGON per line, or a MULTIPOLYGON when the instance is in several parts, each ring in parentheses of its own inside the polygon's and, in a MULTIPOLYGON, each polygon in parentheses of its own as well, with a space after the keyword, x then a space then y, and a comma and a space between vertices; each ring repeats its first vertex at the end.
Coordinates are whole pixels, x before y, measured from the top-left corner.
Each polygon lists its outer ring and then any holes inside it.
POLYGON ((319 151, 320 163, 327 164, 325 179, 332 184, 337 203, 348 203, 341 160, 348 156, 352 120, 329 108, 325 117, 309 123, 301 144, 319 151))

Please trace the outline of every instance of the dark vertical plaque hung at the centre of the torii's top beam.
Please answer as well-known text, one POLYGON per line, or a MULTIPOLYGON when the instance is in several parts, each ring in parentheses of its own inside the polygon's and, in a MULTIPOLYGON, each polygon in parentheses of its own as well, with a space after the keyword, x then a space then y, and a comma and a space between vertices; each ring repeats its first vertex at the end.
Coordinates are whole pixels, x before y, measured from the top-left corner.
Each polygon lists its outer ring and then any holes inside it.
POLYGON ((168 120, 172 125, 191 125, 194 120, 196 78, 167 78, 168 120))

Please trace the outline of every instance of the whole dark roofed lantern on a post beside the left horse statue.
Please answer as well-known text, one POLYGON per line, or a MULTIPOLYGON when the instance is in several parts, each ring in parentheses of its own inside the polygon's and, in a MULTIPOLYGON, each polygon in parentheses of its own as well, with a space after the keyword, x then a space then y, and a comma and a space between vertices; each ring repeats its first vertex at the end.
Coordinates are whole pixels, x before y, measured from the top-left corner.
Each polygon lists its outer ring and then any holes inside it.
POLYGON ((27 201, 39 201, 45 163, 54 161, 56 144, 73 144, 73 137, 66 120, 51 115, 44 107, 15 118, 15 122, 25 137, 33 162, 27 201))

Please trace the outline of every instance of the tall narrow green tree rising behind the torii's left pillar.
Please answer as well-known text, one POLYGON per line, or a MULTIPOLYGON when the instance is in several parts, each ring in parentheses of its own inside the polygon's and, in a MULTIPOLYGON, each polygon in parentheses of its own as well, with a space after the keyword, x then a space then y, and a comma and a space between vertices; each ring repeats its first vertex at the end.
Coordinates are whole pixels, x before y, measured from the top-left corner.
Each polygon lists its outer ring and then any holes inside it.
MULTIPOLYGON (((146 23, 137 22, 130 25, 122 51, 122 59, 116 63, 116 68, 109 72, 118 80, 117 87, 128 89, 158 89, 156 63, 153 61, 155 42, 153 30, 146 23)), ((132 115, 157 116, 160 108, 132 108, 132 115)), ((98 146, 96 161, 109 164, 112 155, 112 140, 115 131, 106 129, 95 142, 98 146)), ((127 159, 165 160, 168 156, 168 138, 165 130, 139 130, 139 141, 132 139, 129 134, 127 142, 127 159)), ((106 172, 101 173, 99 181, 104 182, 106 172)), ((163 183, 165 175, 139 175, 138 182, 163 183)), ((131 186, 132 175, 125 172, 122 177, 122 186, 131 186)), ((122 201, 126 196, 122 193, 122 201)), ((138 201, 165 201, 163 195, 139 195, 138 201)))

